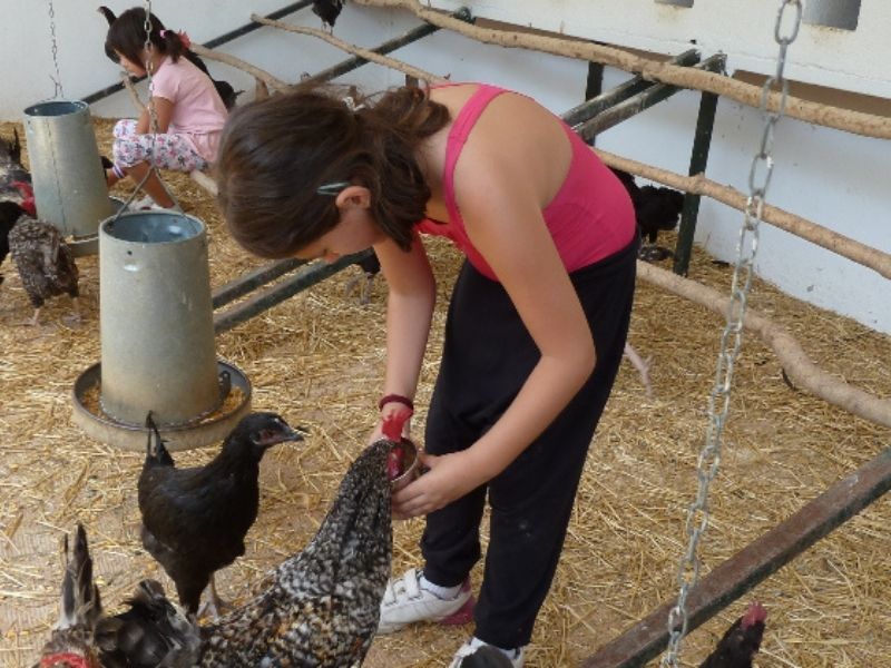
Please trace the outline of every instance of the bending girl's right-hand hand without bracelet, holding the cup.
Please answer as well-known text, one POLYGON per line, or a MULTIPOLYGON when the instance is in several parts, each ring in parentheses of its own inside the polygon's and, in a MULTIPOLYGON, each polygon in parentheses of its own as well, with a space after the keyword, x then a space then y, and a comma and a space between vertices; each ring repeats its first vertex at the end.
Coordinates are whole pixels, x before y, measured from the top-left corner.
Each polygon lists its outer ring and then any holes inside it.
POLYGON ((427 473, 393 494, 393 518, 407 520, 425 515, 460 499, 486 480, 473 474, 468 451, 435 456, 419 453, 427 473))

